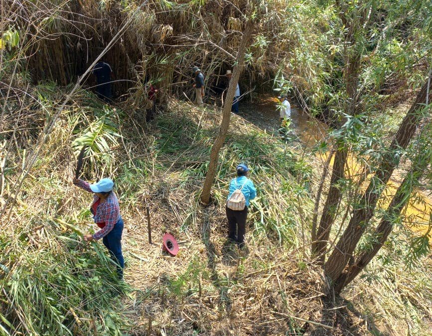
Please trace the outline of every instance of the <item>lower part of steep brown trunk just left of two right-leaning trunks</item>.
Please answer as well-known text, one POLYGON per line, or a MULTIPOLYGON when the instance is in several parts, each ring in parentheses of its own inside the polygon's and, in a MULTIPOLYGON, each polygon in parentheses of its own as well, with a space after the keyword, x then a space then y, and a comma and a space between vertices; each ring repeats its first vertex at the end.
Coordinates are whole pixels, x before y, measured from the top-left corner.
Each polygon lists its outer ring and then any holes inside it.
POLYGON ((337 206, 339 205, 340 199, 342 197, 339 182, 345 176, 345 163, 348 155, 348 150, 343 146, 343 141, 342 143, 339 143, 339 141, 336 143, 337 149, 330 179, 330 189, 322 210, 318 232, 316 234, 315 241, 312 243, 312 253, 319 256, 319 263, 323 263, 325 260, 327 240, 330 236, 331 226, 333 225, 334 219, 336 217, 337 206))

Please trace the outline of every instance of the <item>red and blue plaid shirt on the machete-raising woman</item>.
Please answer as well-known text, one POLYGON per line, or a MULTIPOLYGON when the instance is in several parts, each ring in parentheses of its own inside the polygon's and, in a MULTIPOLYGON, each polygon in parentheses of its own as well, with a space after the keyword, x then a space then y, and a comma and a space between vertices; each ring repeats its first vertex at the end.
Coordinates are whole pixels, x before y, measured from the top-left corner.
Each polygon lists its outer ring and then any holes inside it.
MULTIPOLYGON (((84 189, 85 191, 93 193, 93 191, 90 189, 90 183, 86 181, 80 179, 77 183, 77 186, 84 189)), ((98 199, 98 196, 94 194, 92 205, 98 199)), ((99 231, 93 234, 93 239, 97 240, 105 237, 114 228, 114 225, 116 225, 120 219, 119 200, 117 199, 117 196, 114 192, 111 192, 110 196, 108 196, 104 203, 98 205, 93 219, 95 220, 95 223, 105 222, 104 228, 101 228, 99 231)))

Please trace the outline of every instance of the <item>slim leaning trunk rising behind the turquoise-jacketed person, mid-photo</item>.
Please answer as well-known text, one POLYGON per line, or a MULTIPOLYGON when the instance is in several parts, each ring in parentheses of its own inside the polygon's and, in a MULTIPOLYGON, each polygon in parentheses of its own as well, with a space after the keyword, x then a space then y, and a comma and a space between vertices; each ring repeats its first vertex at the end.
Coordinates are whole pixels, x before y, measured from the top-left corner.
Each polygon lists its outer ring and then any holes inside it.
POLYGON ((223 112, 222 112, 222 121, 219 127, 219 133, 210 151, 210 163, 208 166, 207 174, 205 176, 204 186, 202 188, 202 193, 200 197, 201 202, 203 204, 208 204, 210 202, 210 191, 216 175, 216 168, 219 160, 219 150, 221 149, 225 141, 225 138, 227 136, 228 127, 230 125, 231 106, 234 99, 237 83, 239 82, 240 74, 244 68, 245 53, 252 38, 253 28, 254 28, 254 22, 252 19, 249 19, 248 22, 246 23, 246 28, 243 33, 243 39, 240 43, 239 52, 234 62, 234 64, 236 65, 234 66, 233 76, 230 80, 230 84, 228 87, 227 97, 225 99, 223 112))

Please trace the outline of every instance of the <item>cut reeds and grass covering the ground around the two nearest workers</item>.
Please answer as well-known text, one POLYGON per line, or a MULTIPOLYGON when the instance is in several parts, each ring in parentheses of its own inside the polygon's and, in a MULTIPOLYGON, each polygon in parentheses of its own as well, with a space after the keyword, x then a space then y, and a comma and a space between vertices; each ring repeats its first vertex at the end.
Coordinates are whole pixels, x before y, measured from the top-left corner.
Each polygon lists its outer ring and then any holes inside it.
MULTIPOLYGON (((37 90, 47 99, 55 92, 50 84, 37 90)), ((47 104, 48 112, 53 105, 47 104)), ((2 147, 7 174, 1 204, 9 201, 0 231, 0 263, 7 267, 0 280, 2 333, 120 335, 134 325, 132 332, 143 335, 149 320, 154 332, 167 335, 282 333, 288 326, 301 329, 303 320, 319 314, 320 277, 292 252, 304 243, 297 237, 305 234, 301 217, 304 221, 304 209, 311 207, 310 171, 282 142, 235 118, 213 203, 202 208, 197 200, 220 112, 175 101, 170 106, 148 128, 143 115, 103 106, 79 92, 13 208, 13 184, 26 152, 2 147), (127 223, 125 278, 134 290, 115 281, 99 243, 82 243, 82 233, 91 229, 91 195, 75 188, 71 178, 74 152, 84 143, 89 146, 84 178, 115 179, 127 223), (225 241, 226 190, 239 161, 254 167, 259 193, 245 251, 225 241), (298 202, 304 214, 298 214, 298 202), (154 245, 146 239, 145 206, 154 245), (160 254, 165 230, 180 241, 175 258, 160 254), (227 323, 234 318, 242 322, 227 323)), ((28 132, 15 134, 21 136, 32 139, 28 132)))

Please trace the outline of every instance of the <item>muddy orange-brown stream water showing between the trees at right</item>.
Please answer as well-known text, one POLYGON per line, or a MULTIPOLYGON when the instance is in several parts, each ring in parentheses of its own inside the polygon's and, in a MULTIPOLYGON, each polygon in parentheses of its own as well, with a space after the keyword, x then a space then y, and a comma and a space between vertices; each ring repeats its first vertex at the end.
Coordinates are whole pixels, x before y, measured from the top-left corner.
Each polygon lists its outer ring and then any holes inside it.
MULTIPOLYGON (((258 102, 250 102, 245 99, 240 106, 240 116, 254 123, 256 126, 266 130, 269 134, 277 136, 280 127, 279 112, 277 111, 278 100, 273 97, 263 97, 258 102)), ((299 138, 302 146, 312 147, 317 141, 323 139, 327 135, 327 129, 323 123, 316 120, 310 120, 306 113, 303 113, 301 108, 291 103, 291 125, 295 135, 299 138)), ((326 154, 317 157, 317 162, 325 162, 326 154)), ((348 173, 356 174, 361 169, 361 165, 351 157, 348 160, 348 173)), ((381 200, 380 207, 387 208, 390 204, 391 197, 395 194, 403 180, 403 171, 396 170, 391 180, 387 185, 387 189, 381 200)), ((366 181, 367 182, 367 181, 366 181)), ((410 203, 404 209, 407 225, 418 234, 428 232, 429 223, 432 213, 432 198, 425 191, 419 191, 420 197, 413 197, 410 203)), ((429 234, 432 237, 432 232, 429 234)), ((430 239, 432 246, 432 239, 430 239)))

